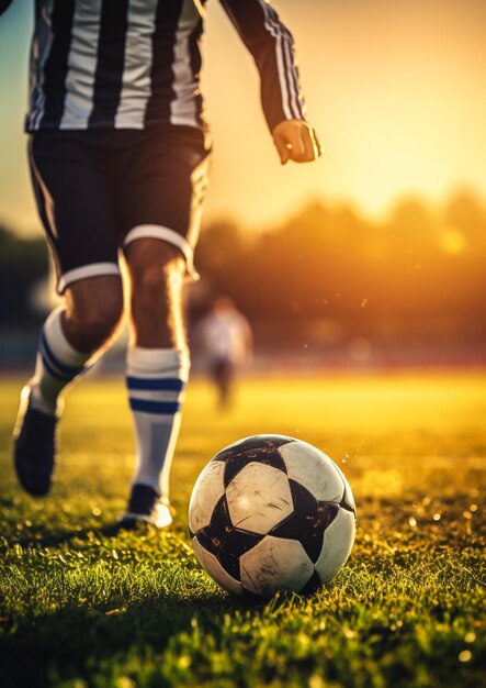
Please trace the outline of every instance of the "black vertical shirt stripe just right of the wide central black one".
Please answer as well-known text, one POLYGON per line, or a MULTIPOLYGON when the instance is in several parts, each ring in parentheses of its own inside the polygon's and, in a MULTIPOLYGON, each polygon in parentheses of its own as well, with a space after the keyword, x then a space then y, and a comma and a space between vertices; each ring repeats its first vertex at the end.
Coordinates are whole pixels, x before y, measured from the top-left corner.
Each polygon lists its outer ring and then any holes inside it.
POLYGON ((168 120, 170 103, 177 98, 173 90, 176 33, 183 8, 183 0, 159 0, 152 36, 152 63, 150 70, 151 95, 145 112, 146 122, 168 120))

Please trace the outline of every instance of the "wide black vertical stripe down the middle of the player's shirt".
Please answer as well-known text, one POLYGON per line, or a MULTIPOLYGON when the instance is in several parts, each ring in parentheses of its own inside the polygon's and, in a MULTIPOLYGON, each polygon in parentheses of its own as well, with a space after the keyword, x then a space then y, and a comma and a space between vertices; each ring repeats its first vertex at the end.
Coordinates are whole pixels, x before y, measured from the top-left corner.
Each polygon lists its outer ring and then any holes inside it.
POLYGON ((113 125, 122 97, 128 0, 102 0, 90 124, 113 125))

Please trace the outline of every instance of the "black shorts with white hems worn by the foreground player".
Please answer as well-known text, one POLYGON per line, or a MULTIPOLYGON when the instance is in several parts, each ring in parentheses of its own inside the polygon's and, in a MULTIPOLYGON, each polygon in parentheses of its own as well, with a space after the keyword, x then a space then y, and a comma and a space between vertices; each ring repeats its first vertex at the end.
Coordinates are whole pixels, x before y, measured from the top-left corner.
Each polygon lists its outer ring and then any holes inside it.
POLYGON ((201 131, 39 131, 29 152, 59 293, 79 279, 120 274, 118 249, 143 237, 174 245, 196 276, 211 157, 201 131))

